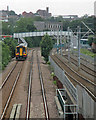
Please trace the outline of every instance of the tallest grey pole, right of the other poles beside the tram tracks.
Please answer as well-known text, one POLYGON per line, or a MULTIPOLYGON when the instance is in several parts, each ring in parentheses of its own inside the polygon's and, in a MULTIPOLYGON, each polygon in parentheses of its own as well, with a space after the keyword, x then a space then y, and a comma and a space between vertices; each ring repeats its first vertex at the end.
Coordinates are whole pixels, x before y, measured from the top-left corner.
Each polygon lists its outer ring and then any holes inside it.
POLYGON ((80 70, 80 39, 81 39, 81 28, 77 27, 77 36, 78 36, 78 70, 80 70))

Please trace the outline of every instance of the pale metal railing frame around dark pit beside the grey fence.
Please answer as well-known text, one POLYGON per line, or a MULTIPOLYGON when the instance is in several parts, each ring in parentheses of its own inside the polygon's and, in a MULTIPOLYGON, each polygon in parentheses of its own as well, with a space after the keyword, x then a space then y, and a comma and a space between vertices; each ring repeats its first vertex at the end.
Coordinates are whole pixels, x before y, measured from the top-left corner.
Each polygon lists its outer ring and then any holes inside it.
POLYGON ((56 96, 60 102, 60 105, 63 110, 64 120, 68 117, 68 115, 73 115, 74 120, 78 119, 78 105, 77 104, 68 104, 67 103, 67 93, 65 89, 57 89, 56 96))

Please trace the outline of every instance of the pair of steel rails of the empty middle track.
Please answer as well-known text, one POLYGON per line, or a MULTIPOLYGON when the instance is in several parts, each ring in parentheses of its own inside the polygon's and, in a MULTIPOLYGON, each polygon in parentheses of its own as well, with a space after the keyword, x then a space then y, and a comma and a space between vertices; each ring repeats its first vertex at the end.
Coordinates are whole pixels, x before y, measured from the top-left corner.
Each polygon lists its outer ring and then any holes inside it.
MULTIPOLYGON (((35 50, 34 50, 35 51, 35 50)), ((48 106, 47 106, 47 100, 46 100, 46 94, 45 94, 45 88, 44 88, 44 83, 43 83, 43 78, 42 78, 42 73, 41 73, 41 69, 40 69, 40 62, 39 62, 39 58, 38 58, 38 52, 36 52, 36 57, 37 57, 37 65, 38 65, 38 71, 39 71, 39 79, 40 79, 40 85, 41 85, 41 93, 42 93, 42 98, 43 98, 43 105, 44 105, 44 112, 45 112, 45 119, 49 120, 49 112, 48 112, 48 106)), ((32 53, 32 59, 31 59, 31 68, 30 68, 30 74, 29 74, 29 87, 28 87, 28 101, 27 101, 27 112, 26 112, 26 120, 28 120, 30 118, 30 105, 31 105, 31 98, 32 93, 34 93, 34 91, 32 91, 32 84, 34 85, 33 81, 33 53, 32 53)))

